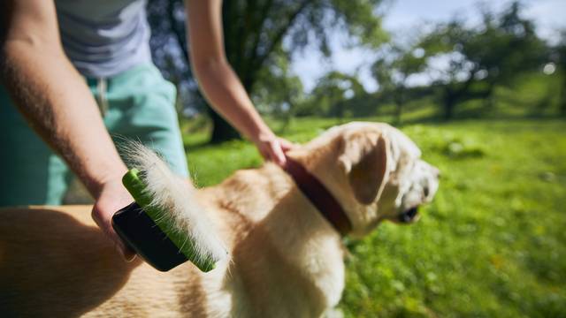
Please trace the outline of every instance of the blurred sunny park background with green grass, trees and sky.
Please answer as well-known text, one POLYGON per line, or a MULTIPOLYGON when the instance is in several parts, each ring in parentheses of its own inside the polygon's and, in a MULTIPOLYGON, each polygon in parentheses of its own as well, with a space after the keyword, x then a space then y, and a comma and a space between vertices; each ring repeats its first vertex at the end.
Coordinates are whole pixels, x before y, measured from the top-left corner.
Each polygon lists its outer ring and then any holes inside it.
MULTIPOLYGON (((187 64, 181 0, 148 4, 198 186, 262 163, 187 64)), ((226 54, 272 129, 402 129, 440 168, 411 226, 346 239, 347 317, 566 316, 566 2, 234 0, 226 54)))

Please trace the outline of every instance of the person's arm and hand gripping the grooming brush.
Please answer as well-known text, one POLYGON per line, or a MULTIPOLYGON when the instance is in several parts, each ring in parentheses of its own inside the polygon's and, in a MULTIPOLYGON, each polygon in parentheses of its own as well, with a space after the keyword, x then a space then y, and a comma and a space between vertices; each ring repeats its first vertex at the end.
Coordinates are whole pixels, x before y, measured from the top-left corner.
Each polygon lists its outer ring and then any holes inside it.
POLYGON ((0 11, 2 82, 28 123, 96 198, 96 223, 126 251, 111 228, 112 214, 132 200, 119 186, 126 166, 85 80, 65 57, 53 1, 4 0, 0 11))

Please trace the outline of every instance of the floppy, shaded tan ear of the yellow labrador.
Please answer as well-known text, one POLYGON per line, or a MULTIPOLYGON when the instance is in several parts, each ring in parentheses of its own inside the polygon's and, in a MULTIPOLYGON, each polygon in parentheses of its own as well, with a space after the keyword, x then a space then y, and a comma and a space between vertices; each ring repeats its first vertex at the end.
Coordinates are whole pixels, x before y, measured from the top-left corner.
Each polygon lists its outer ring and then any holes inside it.
POLYGON ((387 141, 381 133, 352 133, 346 136, 340 164, 356 200, 371 204, 379 199, 389 175, 387 141))

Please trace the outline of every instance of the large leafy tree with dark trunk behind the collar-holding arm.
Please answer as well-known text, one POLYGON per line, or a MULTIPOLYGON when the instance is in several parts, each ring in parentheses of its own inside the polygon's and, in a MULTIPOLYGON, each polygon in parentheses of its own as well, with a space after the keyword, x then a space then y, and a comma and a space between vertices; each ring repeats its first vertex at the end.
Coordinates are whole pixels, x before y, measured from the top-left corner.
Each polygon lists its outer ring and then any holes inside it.
MULTIPOLYGON (((330 39, 344 31, 349 44, 376 47, 386 34, 377 13, 382 0, 233 0, 223 4, 226 56, 242 84, 254 96, 262 83, 259 74, 269 70, 278 58, 292 58, 292 53, 307 45, 330 55, 330 39), (277 56, 277 57, 276 57, 277 56)), ((180 0, 153 0, 149 3, 149 22, 154 32, 155 58, 173 59, 175 66, 183 64, 180 79, 190 76, 190 68, 179 57, 187 57, 187 42, 183 27, 184 14, 180 0), (158 43, 161 43, 159 45, 158 43)), ((157 62, 164 66, 164 63, 157 62)), ((193 79, 187 80, 187 90, 195 93, 193 79)), ((204 102, 202 97, 197 101, 204 102)), ((237 134, 226 122, 211 113, 214 125, 211 141, 231 139, 237 134)))

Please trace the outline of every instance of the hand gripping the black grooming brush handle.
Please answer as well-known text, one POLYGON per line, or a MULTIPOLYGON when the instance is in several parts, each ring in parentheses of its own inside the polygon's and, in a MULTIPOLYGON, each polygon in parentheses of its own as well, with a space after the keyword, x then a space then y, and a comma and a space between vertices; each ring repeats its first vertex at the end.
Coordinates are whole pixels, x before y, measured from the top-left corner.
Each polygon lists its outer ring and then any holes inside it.
POLYGON ((114 242, 114 247, 126 261, 132 261, 135 252, 119 238, 112 227, 112 216, 120 208, 126 207, 134 199, 122 186, 120 178, 103 183, 102 190, 97 195, 95 206, 92 208, 92 218, 108 239, 114 242))

